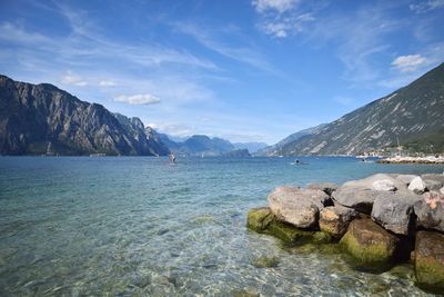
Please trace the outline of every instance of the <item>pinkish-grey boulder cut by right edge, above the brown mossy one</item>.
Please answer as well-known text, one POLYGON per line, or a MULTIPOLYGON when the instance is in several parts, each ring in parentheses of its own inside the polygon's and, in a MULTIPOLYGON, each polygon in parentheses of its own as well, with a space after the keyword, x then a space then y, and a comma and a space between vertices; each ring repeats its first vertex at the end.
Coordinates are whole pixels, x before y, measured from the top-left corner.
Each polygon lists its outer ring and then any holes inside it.
POLYGON ((414 210, 421 226, 444 231, 444 194, 430 191, 416 201, 414 210))

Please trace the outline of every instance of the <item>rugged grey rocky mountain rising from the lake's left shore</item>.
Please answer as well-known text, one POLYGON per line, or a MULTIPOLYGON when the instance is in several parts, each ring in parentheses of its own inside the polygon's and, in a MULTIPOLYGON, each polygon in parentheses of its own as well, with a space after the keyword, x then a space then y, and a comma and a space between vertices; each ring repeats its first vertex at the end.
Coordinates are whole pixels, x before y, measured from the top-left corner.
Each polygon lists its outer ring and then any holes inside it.
POLYGON ((111 113, 49 83, 0 76, 1 155, 168 155, 139 118, 111 113))

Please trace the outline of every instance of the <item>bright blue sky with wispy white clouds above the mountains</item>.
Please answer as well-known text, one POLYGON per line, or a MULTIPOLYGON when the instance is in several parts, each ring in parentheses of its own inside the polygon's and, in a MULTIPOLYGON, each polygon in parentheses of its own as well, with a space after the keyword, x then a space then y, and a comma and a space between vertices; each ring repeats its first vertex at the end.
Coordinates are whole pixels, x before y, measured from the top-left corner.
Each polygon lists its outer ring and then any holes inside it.
POLYGON ((265 141, 444 61, 444 0, 0 1, 0 73, 160 132, 265 141))

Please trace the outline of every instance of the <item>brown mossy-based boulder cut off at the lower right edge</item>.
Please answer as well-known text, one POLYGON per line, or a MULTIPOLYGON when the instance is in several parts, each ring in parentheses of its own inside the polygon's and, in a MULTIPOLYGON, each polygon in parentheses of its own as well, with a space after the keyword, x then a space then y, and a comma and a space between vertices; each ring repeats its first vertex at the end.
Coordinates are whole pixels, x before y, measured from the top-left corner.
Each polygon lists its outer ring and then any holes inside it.
POLYGON ((418 231, 415 245, 415 273, 420 285, 444 291, 444 235, 418 231))

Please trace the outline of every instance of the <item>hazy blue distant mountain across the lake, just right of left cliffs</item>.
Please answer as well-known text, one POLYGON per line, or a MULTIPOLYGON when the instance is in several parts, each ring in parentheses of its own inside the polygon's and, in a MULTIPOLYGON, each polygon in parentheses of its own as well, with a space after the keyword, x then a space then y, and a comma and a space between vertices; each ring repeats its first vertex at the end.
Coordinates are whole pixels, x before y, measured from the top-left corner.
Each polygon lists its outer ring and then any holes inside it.
POLYGON ((183 142, 175 142, 168 135, 160 135, 161 140, 171 151, 186 156, 221 156, 234 149, 234 146, 222 138, 210 138, 204 135, 193 135, 183 142))

